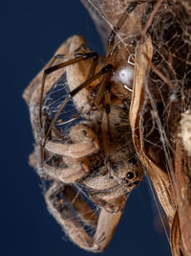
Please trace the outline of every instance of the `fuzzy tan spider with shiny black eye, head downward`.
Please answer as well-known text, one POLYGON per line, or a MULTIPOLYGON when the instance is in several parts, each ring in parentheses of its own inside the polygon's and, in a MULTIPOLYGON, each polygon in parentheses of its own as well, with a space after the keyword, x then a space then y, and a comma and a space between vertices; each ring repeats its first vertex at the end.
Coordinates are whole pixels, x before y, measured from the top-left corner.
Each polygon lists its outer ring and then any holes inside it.
POLYGON ((82 121, 71 128, 70 143, 52 135, 45 145, 44 172, 54 180, 45 193, 49 211, 70 239, 89 251, 100 252, 109 244, 126 199, 144 175, 133 148, 127 109, 126 105, 111 105, 112 142, 102 111, 101 125, 95 120, 82 121), (76 184, 100 209, 98 215, 75 192, 76 184))

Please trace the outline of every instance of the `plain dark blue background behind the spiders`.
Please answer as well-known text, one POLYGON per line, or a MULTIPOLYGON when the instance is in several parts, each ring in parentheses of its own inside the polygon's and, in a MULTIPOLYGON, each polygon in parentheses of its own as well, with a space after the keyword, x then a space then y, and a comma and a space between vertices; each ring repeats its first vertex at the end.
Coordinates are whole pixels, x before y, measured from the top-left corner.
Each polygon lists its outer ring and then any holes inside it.
MULTIPOLYGON (((0 254, 19 256, 87 255, 65 242, 46 210, 40 180, 28 165, 32 129, 22 92, 55 49, 82 34, 101 50, 92 20, 79 0, 4 1, 1 4, 1 208, 0 254)), ((134 191, 103 255, 170 255, 146 179, 134 191)), ((90 255, 90 254, 89 254, 90 255)))

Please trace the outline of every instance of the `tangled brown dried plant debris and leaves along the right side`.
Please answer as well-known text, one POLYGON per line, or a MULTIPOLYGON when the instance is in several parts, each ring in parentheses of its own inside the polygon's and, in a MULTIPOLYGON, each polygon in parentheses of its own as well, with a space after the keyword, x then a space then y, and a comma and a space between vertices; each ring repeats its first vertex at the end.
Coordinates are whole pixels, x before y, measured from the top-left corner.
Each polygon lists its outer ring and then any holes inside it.
POLYGON ((173 255, 190 255, 191 19, 180 1, 160 2, 137 48, 130 120, 138 155, 172 228, 173 255))

